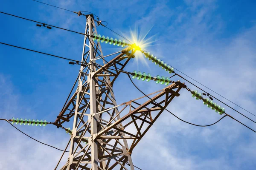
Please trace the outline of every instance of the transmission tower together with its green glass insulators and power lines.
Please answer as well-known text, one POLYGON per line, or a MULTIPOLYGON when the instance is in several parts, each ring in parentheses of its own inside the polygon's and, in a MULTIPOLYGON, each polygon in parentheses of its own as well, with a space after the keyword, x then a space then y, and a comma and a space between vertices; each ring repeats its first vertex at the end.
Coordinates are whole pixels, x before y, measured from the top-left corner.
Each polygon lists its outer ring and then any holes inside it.
MULTIPOLYGON (((0 13, 7 14, 1 11, 0 13)), ((55 122, 47 122, 42 120, 39 121, 34 119, 23 120, 18 118, 12 118, 10 120, 0 119, 6 120, 7 122, 12 122, 12 124, 16 123, 20 125, 24 124, 32 126, 46 126, 47 124, 53 124, 56 125, 58 128, 61 127, 65 129, 71 137, 66 149, 61 150, 63 151, 63 154, 58 161, 55 170, 58 168, 61 160, 63 160, 64 153, 66 152, 69 152, 69 156, 68 159, 65 160, 66 164, 64 164, 60 168, 60 170, 134 170, 134 167, 136 166, 134 166, 131 158, 132 152, 137 144, 140 142, 140 140, 143 138, 145 133, 161 115, 161 113, 166 110, 174 115, 177 119, 180 119, 175 114, 167 110, 166 107, 170 104, 170 102, 172 102, 172 99, 174 99, 175 96, 180 96, 179 91, 181 90, 181 88, 186 88, 186 90, 189 91, 192 96, 195 97, 195 99, 203 100, 204 105, 207 105, 212 110, 215 110, 221 115, 224 114, 221 119, 223 119, 225 116, 229 116, 230 118, 239 122, 237 119, 225 113, 224 108, 212 101, 212 97, 214 99, 217 98, 210 95, 199 87, 198 88, 205 93, 201 94, 197 91, 191 91, 189 88, 186 87, 184 83, 181 83, 179 80, 176 82, 172 81, 169 79, 169 77, 160 77, 158 75, 157 77, 151 77, 151 74, 142 74, 140 71, 134 71, 133 73, 124 71, 124 68, 128 64, 128 62, 136 57, 134 55, 135 52, 140 51, 145 55, 145 58, 151 60, 152 62, 155 62, 155 64, 159 65, 159 67, 161 67, 162 69, 165 69, 169 73, 175 73, 174 68, 172 68, 170 65, 158 59, 153 54, 143 51, 137 45, 128 44, 125 41, 117 39, 113 40, 113 38, 100 36, 99 34, 97 34, 94 21, 97 22, 98 25, 102 24, 99 18, 98 21, 94 20, 93 14, 85 15, 81 14, 80 11, 75 13, 79 14, 79 16, 84 15, 87 19, 84 34, 72 31, 84 35, 81 61, 76 61, 73 59, 59 57, 52 54, 47 54, 28 48, 22 48, 0 42, 0 44, 38 52, 41 54, 46 54, 62 59, 68 59, 70 60, 70 64, 81 65, 78 77, 73 85, 73 88, 71 89, 70 94, 64 104, 64 107, 57 116, 55 122), (106 44, 109 43, 121 47, 127 47, 122 51, 104 56, 100 42, 105 42, 106 44), (107 57, 112 57, 113 59, 111 59, 110 61, 106 61, 107 57), (144 94, 144 96, 117 105, 116 97, 113 91, 113 84, 121 73, 126 73, 128 74, 128 76, 130 74, 132 75, 132 78, 142 79, 146 81, 154 80, 156 83, 166 85, 166 88, 146 95, 131 81, 133 85, 141 93, 144 94), (78 85, 77 88, 75 87, 76 85, 78 85), (209 96, 209 98, 204 98, 202 95, 207 95, 209 96), (72 121, 73 128, 65 128, 67 127, 67 125, 70 125, 72 121), (70 146, 69 151, 67 151, 68 146, 70 146)), ((12 14, 7 15, 18 17, 12 14)), ((26 18, 22 19, 29 20, 26 18)), ((29 21, 40 23, 34 20, 29 21)), ((43 26, 46 26, 47 28, 59 28, 56 26, 50 26, 45 23, 41 24, 43 24, 43 26)), ((42 25, 37 24, 37 26, 42 25)), ((67 29, 64 30, 71 31, 67 29)), ((177 73, 175 73, 173 76, 175 75, 184 79, 177 73)), ((130 76, 129 78, 131 79, 130 76)), ((186 81, 189 82, 188 80, 186 81)), ((194 85, 193 83, 191 84, 194 85)), ((124 90, 123 88, 120 89, 124 90)), ((217 100, 221 102, 219 99, 217 100)), ((227 105, 224 102, 221 103, 227 105)), ((231 108, 229 105, 227 106, 231 108)), ((233 110, 236 111, 235 109, 233 110)), ((240 114, 247 119, 250 119, 242 113, 240 114)), ((221 119, 211 125, 215 125, 221 119)), ((180 120, 186 122, 182 119, 180 120)), ((252 119, 250 120, 256 123, 252 119)), ((195 125, 192 123, 189 124, 195 125)), ((241 124, 244 125, 243 123, 241 124)), ((196 126, 207 127, 211 125, 196 126)), ((247 125, 244 126, 249 128, 250 130, 253 130, 247 125)), ((253 131, 256 132, 255 130, 253 131)), ((54 148, 58 149, 56 147, 54 148)))

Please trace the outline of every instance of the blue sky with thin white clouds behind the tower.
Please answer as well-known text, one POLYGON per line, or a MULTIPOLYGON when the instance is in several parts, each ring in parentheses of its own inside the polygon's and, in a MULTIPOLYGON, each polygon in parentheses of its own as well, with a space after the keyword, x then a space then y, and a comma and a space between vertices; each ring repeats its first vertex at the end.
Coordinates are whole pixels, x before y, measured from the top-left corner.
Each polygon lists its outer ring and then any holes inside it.
MULTIPOLYGON (((42 2, 73 11, 91 11, 101 20, 108 21, 109 28, 128 36, 130 28, 139 28, 145 34, 153 27, 148 37, 154 36, 153 40, 156 41, 154 46, 147 48, 148 51, 254 113, 255 1, 42 2)), ((4 1, 0 11, 79 32, 84 32, 86 22, 84 17, 32 0, 4 1)), ((0 14, 0 21, 0 42, 72 59, 81 58, 84 37, 79 34, 36 27, 35 23, 4 14, 0 14)), ((122 39, 106 28, 97 28, 101 35, 122 39)), ((110 45, 102 45, 102 48, 104 54, 120 50, 110 45)), ((65 60, 4 45, 0 45, 0 58, 0 117, 53 122, 76 79, 79 67, 69 65, 65 60)), ((137 60, 131 61, 125 70, 136 69, 154 76, 168 75, 151 62, 147 62, 147 65, 139 61, 139 64, 137 60)), ((126 76, 119 77, 115 83, 118 103, 142 96, 126 76), (128 90, 121 91, 122 88, 128 90)), ((163 88, 154 82, 135 83, 145 93, 163 88)), ((189 88, 198 90, 191 85, 189 88)), ((180 94, 168 108, 180 118, 203 125, 221 118, 193 99, 188 92, 181 91, 180 94)), ((249 113, 218 98, 255 120, 249 113)), ((226 108, 226 112, 256 129, 256 125, 231 109, 226 108)), ((64 131, 51 126, 19 128, 59 148, 64 148, 69 139, 64 131)), ((6 122, 0 124, 0 136, 0 169, 3 170, 29 170, 34 169, 33 166, 54 169, 61 156, 60 151, 29 139, 6 122)), ((212 127, 193 127, 163 112, 138 144, 132 158, 134 164, 143 170, 254 170, 255 139, 255 133, 229 118, 212 127)))

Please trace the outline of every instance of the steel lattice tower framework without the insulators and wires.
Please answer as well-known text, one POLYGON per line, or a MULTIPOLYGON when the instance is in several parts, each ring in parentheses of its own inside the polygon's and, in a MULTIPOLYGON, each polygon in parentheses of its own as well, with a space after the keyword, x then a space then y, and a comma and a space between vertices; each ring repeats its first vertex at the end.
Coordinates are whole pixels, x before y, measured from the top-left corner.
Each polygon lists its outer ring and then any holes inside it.
POLYGON ((73 95, 69 95, 54 123, 61 127, 73 120, 69 158, 61 170, 134 170, 134 147, 184 86, 178 81, 149 94, 163 108, 145 96, 117 105, 113 84, 135 57, 136 49, 128 46, 103 56, 100 43, 91 37, 97 34, 93 15, 86 18, 85 34, 89 36, 84 37, 81 62, 90 65, 81 65, 70 92, 73 95), (108 56, 114 58, 103 61, 103 65, 97 63, 108 56))

